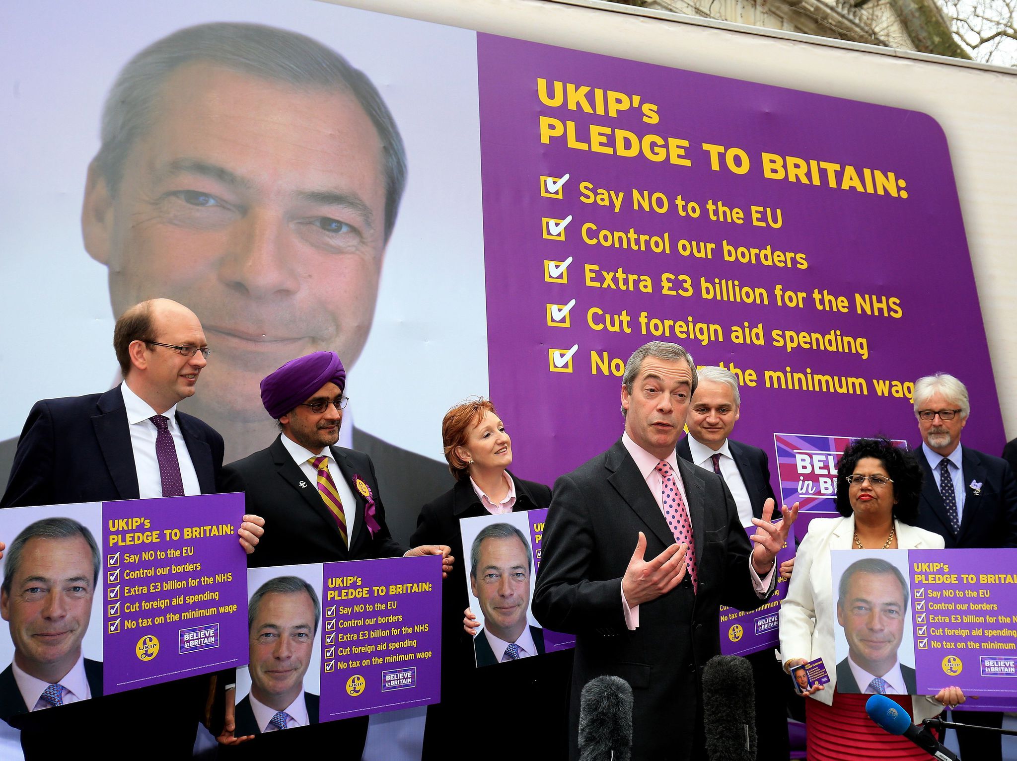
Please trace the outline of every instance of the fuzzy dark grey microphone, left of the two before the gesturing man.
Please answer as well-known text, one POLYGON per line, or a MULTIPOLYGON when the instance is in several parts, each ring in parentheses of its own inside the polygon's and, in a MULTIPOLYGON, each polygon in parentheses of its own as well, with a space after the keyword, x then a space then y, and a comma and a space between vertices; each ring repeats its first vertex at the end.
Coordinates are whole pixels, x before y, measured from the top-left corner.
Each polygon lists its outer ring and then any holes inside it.
POLYGON ((580 695, 580 761, 630 761, 633 689, 620 677, 596 677, 580 695))

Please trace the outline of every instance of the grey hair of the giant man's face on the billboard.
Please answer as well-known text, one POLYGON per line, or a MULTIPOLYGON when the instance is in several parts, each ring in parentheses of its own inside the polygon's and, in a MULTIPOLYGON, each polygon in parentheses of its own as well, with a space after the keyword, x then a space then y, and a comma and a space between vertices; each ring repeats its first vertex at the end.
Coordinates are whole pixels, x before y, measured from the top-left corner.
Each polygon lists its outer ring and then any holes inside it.
POLYGON ((152 126, 166 79, 176 69, 204 62, 239 74, 305 91, 335 89, 352 95, 381 142, 385 185, 384 238, 396 225, 406 187, 406 147, 377 89, 336 51, 295 32, 256 23, 217 22, 174 32, 135 55, 120 71, 103 109, 102 147, 95 159, 116 196, 134 142, 152 126))

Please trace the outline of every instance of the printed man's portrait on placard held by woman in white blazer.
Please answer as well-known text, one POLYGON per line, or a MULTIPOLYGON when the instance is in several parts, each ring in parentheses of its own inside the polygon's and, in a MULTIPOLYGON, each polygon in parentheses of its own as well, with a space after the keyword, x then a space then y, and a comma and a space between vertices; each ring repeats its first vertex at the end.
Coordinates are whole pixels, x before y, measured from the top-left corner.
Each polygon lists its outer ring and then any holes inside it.
POLYGON ((897 659, 904 638, 907 582, 879 558, 855 561, 840 577, 837 623, 847 657, 837 664, 839 692, 916 695, 914 669, 897 659))

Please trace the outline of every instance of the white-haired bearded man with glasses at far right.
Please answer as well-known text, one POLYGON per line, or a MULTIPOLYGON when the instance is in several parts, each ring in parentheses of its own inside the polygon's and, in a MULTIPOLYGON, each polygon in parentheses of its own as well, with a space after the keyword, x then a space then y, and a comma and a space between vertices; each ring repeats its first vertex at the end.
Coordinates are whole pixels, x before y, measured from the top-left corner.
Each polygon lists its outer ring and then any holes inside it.
MULTIPOLYGON (((953 547, 1017 547, 1017 481, 1006 460, 961 445, 971 405, 967 388, 945 372, 914 383, 914 415, 921 433, 918 462, 924 471, 915 525, 953 547)), ((961 723, 999 727, 996 711, 955 711, 961 723)), ((998 761, 999 735, 958 729, 965 758, 998 761)))

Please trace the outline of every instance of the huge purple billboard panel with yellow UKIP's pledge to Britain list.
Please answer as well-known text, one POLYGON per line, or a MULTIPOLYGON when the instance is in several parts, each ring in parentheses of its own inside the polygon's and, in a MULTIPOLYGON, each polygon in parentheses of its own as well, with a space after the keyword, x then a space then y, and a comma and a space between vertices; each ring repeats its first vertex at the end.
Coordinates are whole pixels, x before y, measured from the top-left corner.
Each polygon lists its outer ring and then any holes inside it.
MULTIPOLYGON (((490 391, 512 430, 518 472, 550 483, 609 447, 622 430, 619 365, 638 346, 658 338, 677 340, 699 364, 733 363, 756 371, 757 385, 741 388, 743 414, 736 435, 757 447, 769 449, 775 430, 791 427, 788 415, 793 429, 884 433, 914 444, 918 430, 904 384, 945 369, 962 376, 978 402, 978 425, 968 426, 965 444, 999 451, 1005 440, 981 312, 947 136, 934 119, 490 35, 478 35, 477 48, 490 391), (545 105, 541 78, 552 104, 555 82, 580 89, 572 93, 577 108, 569 108, 567 93, 562 105, 545 105), (604 111, 601 104, 609 98, 635 103, 637 97, 638 108, 614 116, 596 113, 604 111), (657 123, 644 120, 647 104, 657 107, 657 123), (557 120, 563 134, 542 142, 542 117, 557 120), (609 130, 600 153, 569 147, 569 130, 576 135, 574 143, 594 144, 591 127, 609 130), (614 153, 619 130, 640 140, 647 135, 687 140, 684 158, 691 165, 667 157, 655 162, 642 155, 619 156, 614 153), (704 143, 743 151, 747 171, 737 173, 745 165, 733 153, 737 171, 723 157, 714 169, 704 143), (807 176, 807 184, 771 179, 763 171, 764 153, 806 164, 850 165, 859 174, 864 169, 892 172, 906 187, 898 184, 894 197, 814 184, 807 176), (547 192, 542 178, 566 174, 558 190, 547 192), (595 190, 620 195, 600 194, 602 206, 595 190), (900 190, 906 190, 906 198, 900 190), (665 211, 635 209, 634 191, 657 197, 665 211), (742 223, 709 219, 710 200, 741 210, 742 223), (699 204, 699 217, 691 215, 689 201, 699 204), (752 222, 754 206, 763 210, 762 225, 752 222), (775 223, 780 210, 780 227, 767 224, 766 209, 775 223), (563 232, 557 222, 551 227, 545 222, 570 217, 563 232), (636 247, 614 240, 603 245, 597 237, 618 232, 627 241, 630 230, 636 247), (661 240, 666 234, 670 253, 646 250, 652 240, 645 245, 640 234, 661 240), (745 248, 746 256, 750 248, 760 249, 756 264, 726 260, 725 241, 745 248), (710 257, 696 255, 711 243, 710 257), (807 268, 794 261, 790 267, 762 264, 768 246, 770 253, 802 254, 807 268), (570 258, 556 282, 546 262, 570 258), (652 292, 639 290, 639 279, 622 278, 625 290, 608 287, 600 274, 588 281, 588 267, 646 276, 643 282, 652 292), (662 292, 664 275, 674 276, 673 294, 662 292), (944 277, 953 305, 948 310, 941 307, 944 277), (703 286, 716 285, 715 279, 732 286, 738 281, 738 289, 762 289, 768 304, 708 298, 703 286), (782 293, 804 293, 804 304, 778 304, 778 287, 782 293), (845 311, 836 298, 818 308, 814 290, 821 299, 824 290, 843 297, 845 311), (899 316, 865 314, 856 297, 868 298, 870 305, 885 298, 885 311, 899 311, 899 316), (696 326, 714 325, 722 337, 675 339, 673 330, 670 336, 650 335, 641 328, 642 312, 648 320, 674 320, 674 327, 690 319, 696 326), (732 328, 745 324, 747 343, 737 343, 732 328), (835 344, 844 337, 863 338, 865 348, 788 351, 775 343, 775 330, 830 334, 835 344), (924 350, 934 337, 952 347, 949 357, 924 350), (574 346, 570 364, 566 356, 574 346), (596 356, 602 362, 605 353, 606 372, 593 361, 596 356), (555 356, 561 367, 554 365, 555 356), (859 378, 868 393, 780 389, 775 375, 767 388, 765 371, 785 367, 802 373, 806 383, 829 375, 846 388, 844 378, 859 378), (892 386, 893 380, 900 386, 892 386)), ((613 285, 618 285, 616 275, 613 285)), ((851 388, 860 392, 860 382, 851 388)))

